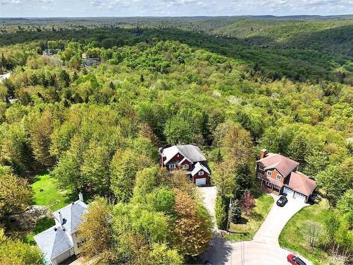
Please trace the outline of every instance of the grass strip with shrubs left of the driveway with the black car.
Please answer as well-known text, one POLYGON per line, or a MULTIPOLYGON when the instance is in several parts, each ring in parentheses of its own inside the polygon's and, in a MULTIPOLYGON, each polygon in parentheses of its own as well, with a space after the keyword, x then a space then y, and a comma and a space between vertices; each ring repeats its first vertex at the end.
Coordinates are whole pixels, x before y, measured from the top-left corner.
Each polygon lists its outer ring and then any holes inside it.
POLYGON ((268 215, 268 212, 274 202, 273 197, 261 192, 253 192, 253 195, 255 197, 255 206, 249 216, 246 216, 243 213, 241 216, 241 223, 232 223, 229 229, 231 232, 246 232, 247 234, 242 236, 241 234, 230 233, 226 236, 228 240, 232 240, 234 242, 252 240, 253 236, 258 231, 258 228, 260 228, 263 223, 263 220, 265 220, 268 215))

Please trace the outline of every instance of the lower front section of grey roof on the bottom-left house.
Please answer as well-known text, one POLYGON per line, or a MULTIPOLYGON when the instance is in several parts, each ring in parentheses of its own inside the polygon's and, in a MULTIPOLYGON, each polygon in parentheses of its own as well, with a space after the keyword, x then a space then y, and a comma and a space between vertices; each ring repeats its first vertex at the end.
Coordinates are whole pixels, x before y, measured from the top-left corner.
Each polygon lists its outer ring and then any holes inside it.
POLYGON ((42 249, 48 259, 53 259, 59 254, 73 247, 65 230, 61 227, 52 227, 34 236, 35 242, 42 249))

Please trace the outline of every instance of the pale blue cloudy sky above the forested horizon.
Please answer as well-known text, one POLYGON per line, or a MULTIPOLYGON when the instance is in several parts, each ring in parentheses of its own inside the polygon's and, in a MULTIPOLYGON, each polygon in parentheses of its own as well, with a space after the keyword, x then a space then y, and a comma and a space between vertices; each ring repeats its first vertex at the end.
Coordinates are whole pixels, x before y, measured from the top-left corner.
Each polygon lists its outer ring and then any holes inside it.
POLYGON ((0 17, 339 15, 353 0, 0 0, 0 17))

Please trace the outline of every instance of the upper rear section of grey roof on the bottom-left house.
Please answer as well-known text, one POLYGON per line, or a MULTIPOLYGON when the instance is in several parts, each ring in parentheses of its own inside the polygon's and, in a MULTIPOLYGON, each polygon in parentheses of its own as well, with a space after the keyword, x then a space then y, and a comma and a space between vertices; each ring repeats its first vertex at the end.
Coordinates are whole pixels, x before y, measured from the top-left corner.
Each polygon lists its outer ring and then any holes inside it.
POLYGON ((80 224, 80 218, 85 211, 87 211, 88 205, 83 201, 75 201, 72 204, 68 204, 64 208, 54 211, 53 215, 56 220, 60 222, 59 213, 61 213, 64 222, 63 226, 71 235, 76 231, 76 227, 80 224))

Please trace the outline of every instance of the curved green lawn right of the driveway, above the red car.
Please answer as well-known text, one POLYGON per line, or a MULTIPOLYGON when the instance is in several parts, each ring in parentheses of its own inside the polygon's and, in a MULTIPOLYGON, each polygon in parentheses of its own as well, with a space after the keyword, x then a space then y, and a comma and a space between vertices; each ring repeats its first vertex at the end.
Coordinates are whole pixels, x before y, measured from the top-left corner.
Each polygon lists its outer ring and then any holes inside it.
POLYGON ((313 264, 333 264, 330 263, 330 255, 322 249, 311 247, 306 239, 308 222, 317 222, 323 224, 327 213, 328 201, 322 199, 318 204, 302 208, 296 213, 283 228, 280 234, 280 246, 298 252, 313 264))

